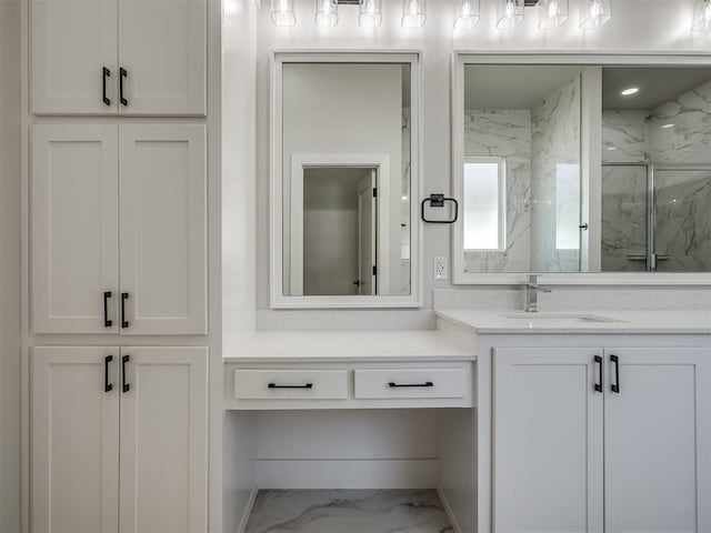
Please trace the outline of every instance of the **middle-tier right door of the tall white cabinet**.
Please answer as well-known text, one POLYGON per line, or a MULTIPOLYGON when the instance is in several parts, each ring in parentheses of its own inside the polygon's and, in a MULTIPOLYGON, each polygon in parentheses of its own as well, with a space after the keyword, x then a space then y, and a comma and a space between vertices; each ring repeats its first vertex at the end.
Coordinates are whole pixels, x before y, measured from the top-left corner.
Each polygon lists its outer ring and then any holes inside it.
POLYGON ((206 130, 121 125, 127 334, 207 332, 206 130))

